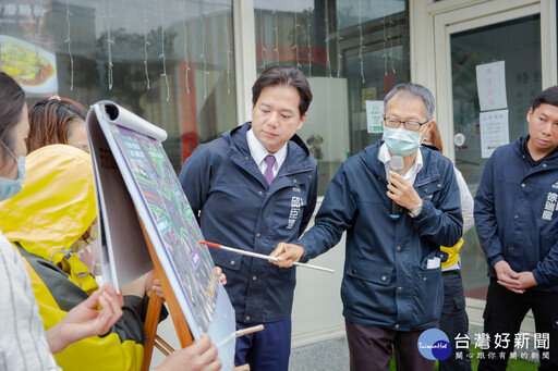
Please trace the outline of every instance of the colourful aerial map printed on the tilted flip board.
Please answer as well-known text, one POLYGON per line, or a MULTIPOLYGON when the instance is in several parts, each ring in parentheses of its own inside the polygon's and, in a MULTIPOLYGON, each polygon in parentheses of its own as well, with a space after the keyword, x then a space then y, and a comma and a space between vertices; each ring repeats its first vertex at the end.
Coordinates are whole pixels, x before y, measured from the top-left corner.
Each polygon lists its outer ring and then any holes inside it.
POLYGON ((167 153, 158 140, 118 125, 112 131, 162 236, 184 294, 195 307, 196 323, 202 332, 207 332, 217 304, 218 277, 213 272, 209 251, 198 243, 204 238, 202 231, 167 153))

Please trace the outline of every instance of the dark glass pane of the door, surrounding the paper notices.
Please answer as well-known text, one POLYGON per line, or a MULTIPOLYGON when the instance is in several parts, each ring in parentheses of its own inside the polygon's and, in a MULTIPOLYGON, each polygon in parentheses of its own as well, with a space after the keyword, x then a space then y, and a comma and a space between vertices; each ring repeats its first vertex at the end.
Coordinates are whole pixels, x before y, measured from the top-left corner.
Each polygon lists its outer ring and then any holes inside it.
MULTIPOLYGON (((481 156, 480 103, 476 65, 505 61, 509 110, 510 143, 527 133, 525 115, 532 99, 541 91, 541 22, 529 16, 451 36, 451 77, 453 88, 453 129, 457 140, 456 166, 465 178, 471 194, 476 193, 487 159, 481 156), (513 40, 509 44, 508 40, 513 40)), ((465 295, 484 299, 486 262, 474 228, 463 236, 461 248, 465 295)))

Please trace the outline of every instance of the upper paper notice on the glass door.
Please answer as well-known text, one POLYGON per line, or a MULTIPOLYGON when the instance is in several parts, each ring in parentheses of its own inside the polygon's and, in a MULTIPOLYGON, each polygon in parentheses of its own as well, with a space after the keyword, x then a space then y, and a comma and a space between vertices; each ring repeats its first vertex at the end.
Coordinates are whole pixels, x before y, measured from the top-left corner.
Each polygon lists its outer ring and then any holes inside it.
POLYGON ((476 66, 476 88, 481 111, 508 108, 506 98, 506 63, 504 61, 476 66))

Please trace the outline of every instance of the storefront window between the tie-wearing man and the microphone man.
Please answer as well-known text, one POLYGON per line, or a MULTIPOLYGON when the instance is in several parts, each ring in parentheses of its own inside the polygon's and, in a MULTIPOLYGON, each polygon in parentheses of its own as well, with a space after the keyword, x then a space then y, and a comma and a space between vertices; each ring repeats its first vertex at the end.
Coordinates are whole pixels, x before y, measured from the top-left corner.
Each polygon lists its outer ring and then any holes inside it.
POLYGON ((410 78, 405 1, 254 0, 256 65, 294 65, 314 100, 299 135, 318 163, 324 195, 342 161, 381 137, 366 100, 410 78))

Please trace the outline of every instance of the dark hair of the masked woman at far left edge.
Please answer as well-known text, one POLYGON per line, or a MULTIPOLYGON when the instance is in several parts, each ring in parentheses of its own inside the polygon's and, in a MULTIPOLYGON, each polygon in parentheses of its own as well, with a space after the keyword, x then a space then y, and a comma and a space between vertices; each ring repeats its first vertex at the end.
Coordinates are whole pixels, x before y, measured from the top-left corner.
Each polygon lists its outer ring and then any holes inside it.
MULTIPOLYGON (((25 92, 22 87, 7 73, 0 72, 0 140, 10 148, 14 149, 13 128, 22 118, 22 110, 25 106, 25 92)), ((0 160, 4 161, 9 154, 0 146, 0 160)))

